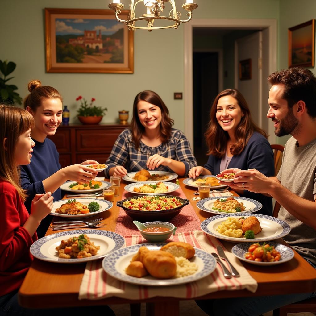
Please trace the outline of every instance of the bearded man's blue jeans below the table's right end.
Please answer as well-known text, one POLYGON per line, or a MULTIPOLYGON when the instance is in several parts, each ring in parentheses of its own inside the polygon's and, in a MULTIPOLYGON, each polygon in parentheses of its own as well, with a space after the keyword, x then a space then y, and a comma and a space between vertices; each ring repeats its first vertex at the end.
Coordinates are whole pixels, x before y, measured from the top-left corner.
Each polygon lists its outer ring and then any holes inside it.
MULTIPOLYGON (((306 260, 306 259, 305 259, 306 260)), ((306 260, 315 269, 316 266, 306 260)), ((231 291, 232 296, 234 292, 231 291)), ((273 296, 257 297, 236 297, 218 300, 196 301, 197 305, 208 315, 212 316, 258 316, 279 307, 303 301, 316 296, 316 289, 313 293, 298 293, 273 296)))

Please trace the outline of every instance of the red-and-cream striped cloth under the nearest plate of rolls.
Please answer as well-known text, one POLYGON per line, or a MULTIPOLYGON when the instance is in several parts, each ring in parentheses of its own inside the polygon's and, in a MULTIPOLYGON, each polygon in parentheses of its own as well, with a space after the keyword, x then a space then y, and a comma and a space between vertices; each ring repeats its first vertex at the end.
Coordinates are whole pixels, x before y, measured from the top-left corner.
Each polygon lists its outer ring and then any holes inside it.
MULTIPOLYGON (((125 241, 126 246, 145 242, 140 235, 125 236, 125 241)), ((192 246, 209 253, 217 252, 217 245, 221 245, 219 240, 199 230, 176 234, 168 241, 188 242, 192 246)), ((201 280, 182 285, 163 287, 138 286, 116 280, 103 271, 101 267, 101 260, 91 261, 87 263, 86 270, 82 278, 79 290, 79 299, 97 300, 111 296, 131 300, 140 300, 155 296, 192 299, 220 290, 247 289, 251 292, 255 292, 258 287, 256 280, 249 275, 247 270, 232 253, 226 250, 225 253, 240 273, 239 278, 225 279, 221 268, 217 264, 216 270, 201 280)))

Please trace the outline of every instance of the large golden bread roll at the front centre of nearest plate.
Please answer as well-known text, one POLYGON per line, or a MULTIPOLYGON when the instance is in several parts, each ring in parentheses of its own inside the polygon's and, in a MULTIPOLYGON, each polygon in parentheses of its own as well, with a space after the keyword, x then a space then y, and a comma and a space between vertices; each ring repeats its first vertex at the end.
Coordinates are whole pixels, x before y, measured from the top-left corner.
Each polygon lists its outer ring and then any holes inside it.
POLYGON ((146 252, 143 264, 151 276, 159 279, 169 279, 176 274, 177 263, 169 252, 161 250, 146 252))

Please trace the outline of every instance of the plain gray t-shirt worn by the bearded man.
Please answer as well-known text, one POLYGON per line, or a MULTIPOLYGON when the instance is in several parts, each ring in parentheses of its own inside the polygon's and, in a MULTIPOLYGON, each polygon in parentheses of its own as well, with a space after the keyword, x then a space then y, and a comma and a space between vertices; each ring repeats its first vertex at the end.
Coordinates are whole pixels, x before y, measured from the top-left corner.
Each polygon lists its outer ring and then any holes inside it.
MULTIPOLYGON (((295 195, 309 201, 315 200, 316 139, 301 147, 293 137, 287 141, 277 179, 295 195)), ((316 264, 316 230, 300 222, 283 206, 280 208, 278 218, 287 222, 291 228, 291 232, 283 239, 302 257, 316 264)))

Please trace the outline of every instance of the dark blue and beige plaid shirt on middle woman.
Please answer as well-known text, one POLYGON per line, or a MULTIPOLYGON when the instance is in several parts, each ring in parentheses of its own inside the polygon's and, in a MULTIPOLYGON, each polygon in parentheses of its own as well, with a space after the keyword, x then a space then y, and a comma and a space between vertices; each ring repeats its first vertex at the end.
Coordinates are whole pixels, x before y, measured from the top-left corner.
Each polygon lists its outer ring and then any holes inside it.
MULTIPOLYGON (((132 132, 130 129, 126 129, 115 141, 111 154, 106 161, 108 166, 105 170, 106 177, 109 177, 109 170, 116 166, 125 166, 128 172, 147 169, 146 162, 154 154, 183 162, 185 164, 185 176, 188 175, 192 167, 197 165, 190 144, 181 131, 172 129, 170 139, 156 147, 149 147, 140 141, 139 148, 136 150, 132 132)), ((159 166, 155 170, 173 172, 168 166, 159 166)))

